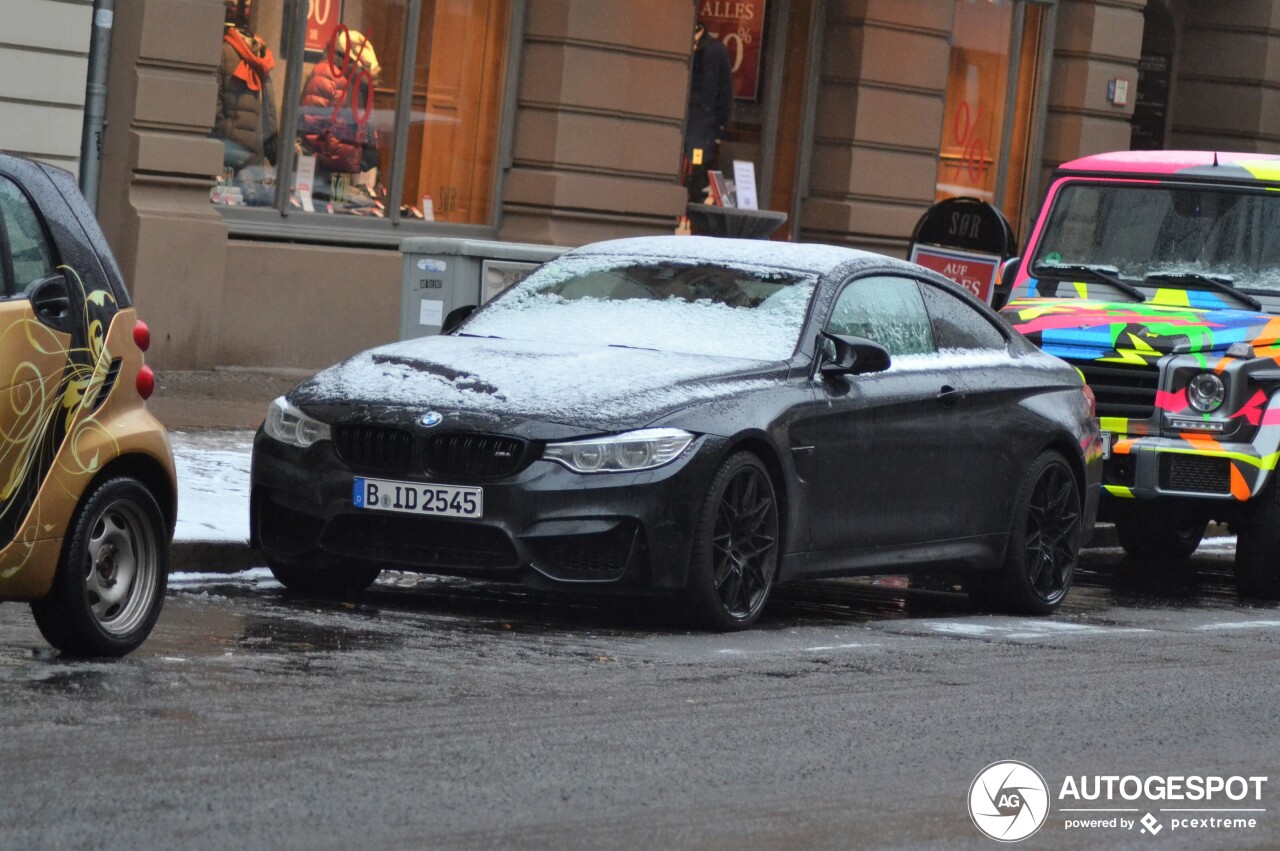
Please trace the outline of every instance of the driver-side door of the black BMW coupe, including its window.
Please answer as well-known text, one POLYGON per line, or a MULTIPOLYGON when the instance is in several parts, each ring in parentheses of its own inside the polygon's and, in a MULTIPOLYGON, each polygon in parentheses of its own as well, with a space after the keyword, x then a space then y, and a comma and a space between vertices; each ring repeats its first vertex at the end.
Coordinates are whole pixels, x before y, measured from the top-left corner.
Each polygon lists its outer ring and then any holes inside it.
POLYGON ((812 453, 809 526, 817 552, 897 546, 945 537, 950 499, 940 486, 950 440, 945 381, 922 363, 934 354, 916 282, 872 275, 847 282, 824 330, 864 337, 895 358, 884 372, 815 378, 815 404, 792 441, 812 453), (812 447, 812 448, 809 448, 812 447))

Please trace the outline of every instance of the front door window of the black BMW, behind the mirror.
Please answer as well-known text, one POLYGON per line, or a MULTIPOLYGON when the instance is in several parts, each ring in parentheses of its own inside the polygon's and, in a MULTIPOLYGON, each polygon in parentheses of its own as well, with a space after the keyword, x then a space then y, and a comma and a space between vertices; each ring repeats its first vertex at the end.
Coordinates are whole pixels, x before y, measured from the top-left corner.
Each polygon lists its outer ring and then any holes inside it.
POLYGON ((840 293, 827 330, 865 337, 890 354, 927 354, 936 351, 929 315, 919 285, 910 278, 860 278, 840 293))

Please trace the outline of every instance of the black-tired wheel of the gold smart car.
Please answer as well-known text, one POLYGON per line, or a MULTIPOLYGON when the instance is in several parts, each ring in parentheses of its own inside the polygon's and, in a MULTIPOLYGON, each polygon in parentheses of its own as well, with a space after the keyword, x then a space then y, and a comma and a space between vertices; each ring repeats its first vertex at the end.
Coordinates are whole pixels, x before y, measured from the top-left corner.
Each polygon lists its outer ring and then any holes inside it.
POLYGON ((72 514, 52 587, 31 612, 64 655, 123 656, 151 635, 168 581, 169 529, 155 497, 136 479, 108 479, 72 514))

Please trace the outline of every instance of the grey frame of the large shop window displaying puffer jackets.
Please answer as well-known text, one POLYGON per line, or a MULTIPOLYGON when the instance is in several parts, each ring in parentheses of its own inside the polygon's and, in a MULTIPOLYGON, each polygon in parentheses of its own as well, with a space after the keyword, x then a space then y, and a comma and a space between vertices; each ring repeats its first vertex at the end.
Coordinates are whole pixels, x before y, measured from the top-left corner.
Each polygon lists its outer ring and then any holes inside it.
MULTIPOLYGON (((502 198, 507 171, 513 161, 513 131, 516 125, 516 91, 520 79, 520 63, 524 52, 524 31, 527 0, 511 0, 507 18, 507 68, 503 76, 502 106, 498 113, 498 151, 494 156, 493 188, 489 221, 485 224, 460 224, 451 221, 422 221, 402 219, 399 205, 388 205, 387 216, 370 219, 364 216, 344 216, 312 214, 289 207, 291 187, 293 184, 293 139, 298 132, 298 102, 302 92, 302 65, 306 49, 307 4, 288 3, 282 20, 280 52, 285 60, 284 99, 279 107, 280 150, 275 166, 275 197, 268 207, 236 207, 211 203, 227 224, 229 235, 251 239, 288 239, 320 244, 398 247, 406 237, 468 237, 474 239, 497 238, 502 225, 502 198), (292 14, 292 18, 289 15, 292 14)), ((422 0, 406 0, 404 5, 404 44, 401 60, 401 76, 397 79, 396 132, 392 142, 392 157, 397 166, 392 171, 392 184, 388 197, 403 195, 404 161, 408 154, 408 119, 412 97, 402 96, 412 91, 413 67, 417 58, 416 33, 422 18, 422 0)))

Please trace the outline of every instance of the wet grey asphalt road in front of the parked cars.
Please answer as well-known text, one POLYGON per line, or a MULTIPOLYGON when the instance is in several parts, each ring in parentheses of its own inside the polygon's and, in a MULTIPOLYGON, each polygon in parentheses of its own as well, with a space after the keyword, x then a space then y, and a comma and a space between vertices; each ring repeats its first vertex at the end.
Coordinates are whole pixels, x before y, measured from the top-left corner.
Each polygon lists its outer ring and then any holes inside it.
POLYGON ((184 577, 114 663, 4 605, 0 847, 992 848, 965 802, 1001 759, 1055 795, 1272 778, 1252 831, 1071 832, 1055 805, 1023 847, 1280 847, 1280 608, 1235 598, 1230 555, 1089 552, 1048 619, 795 586, 739 635, 396 573, 358 604, 184 577))

